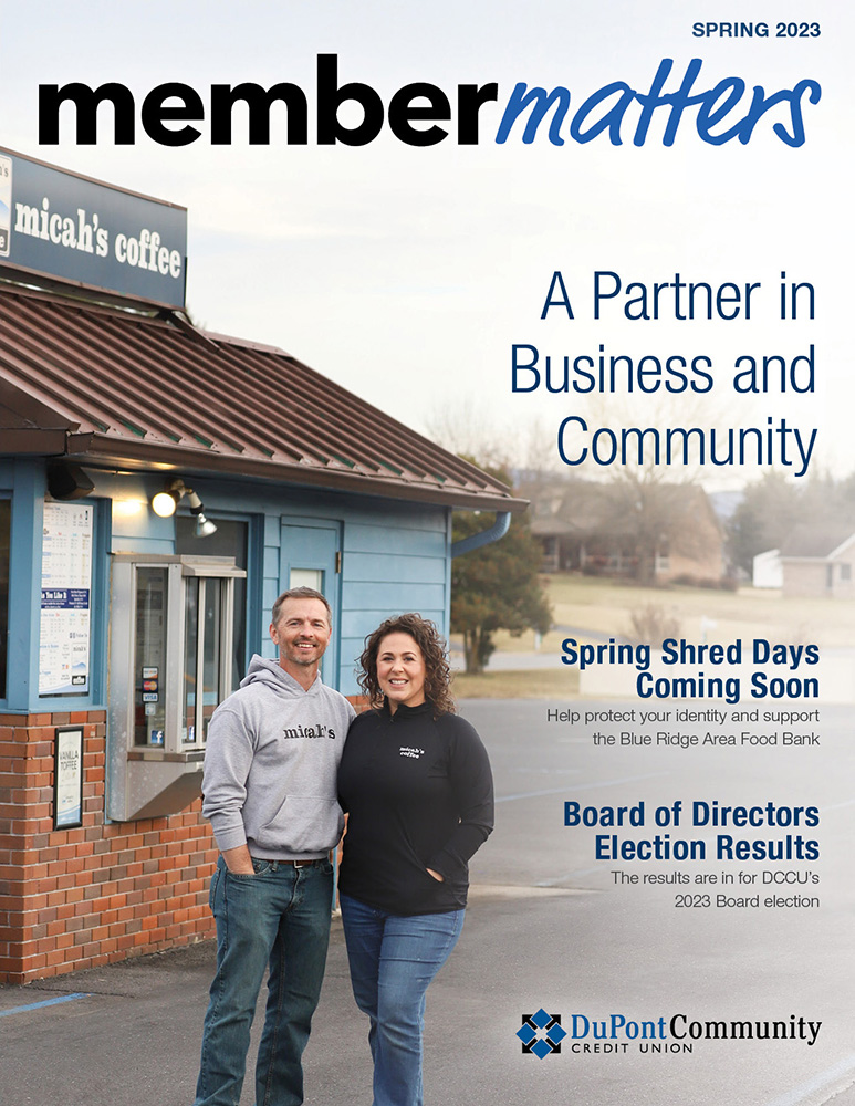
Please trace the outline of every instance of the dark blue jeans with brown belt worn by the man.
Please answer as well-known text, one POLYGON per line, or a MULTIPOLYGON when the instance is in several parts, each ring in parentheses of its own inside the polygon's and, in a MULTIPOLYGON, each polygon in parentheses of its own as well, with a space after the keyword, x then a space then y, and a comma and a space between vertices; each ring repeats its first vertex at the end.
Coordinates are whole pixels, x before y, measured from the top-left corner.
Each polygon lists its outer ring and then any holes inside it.
POLYGON ((205 1015, 195 1106, 237 1106, 256 1002, 270 966, 264 1032, 256 1065, 257 1106, 300 1106, 301 1056, 326 964, 333 867, 253 860, 233 875, 220 857, 211 879, 217 974, 205 1015))

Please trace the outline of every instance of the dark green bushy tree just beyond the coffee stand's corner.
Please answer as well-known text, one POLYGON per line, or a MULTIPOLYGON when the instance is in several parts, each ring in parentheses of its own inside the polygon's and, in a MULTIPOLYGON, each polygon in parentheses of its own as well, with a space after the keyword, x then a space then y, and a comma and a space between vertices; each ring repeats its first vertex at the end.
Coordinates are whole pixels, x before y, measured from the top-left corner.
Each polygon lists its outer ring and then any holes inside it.
MULTIPOLYGON (((509 482, 500 469, 486 471, 509 482)), ((483 514, 456 514, 453 539, 460 541, 489 525, 483 514)), ((538 580, 540 556, 528 523, 517 515, 500 541, 452 562, 451 633, 463 635, 468 672, 483 671, 496 649, 496 630, 508 629, 515 637, 526 629, 545 634, 550 628, 552 611, 538 580)))

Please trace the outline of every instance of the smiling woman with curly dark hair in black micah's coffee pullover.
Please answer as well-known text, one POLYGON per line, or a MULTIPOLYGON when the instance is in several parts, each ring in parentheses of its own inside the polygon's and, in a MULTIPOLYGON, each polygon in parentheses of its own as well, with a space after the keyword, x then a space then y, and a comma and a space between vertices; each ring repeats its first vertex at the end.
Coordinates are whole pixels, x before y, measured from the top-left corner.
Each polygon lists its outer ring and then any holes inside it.
POLYGON ((354 998, 371 1019, 374 1106, 421 1106, 425 992, 460 936, 469 857, 493 825, 492 776, 455 713, 432 623, 388 618, 361 664, 373 709, 351 726, 338 770, 342 918, 354 998))

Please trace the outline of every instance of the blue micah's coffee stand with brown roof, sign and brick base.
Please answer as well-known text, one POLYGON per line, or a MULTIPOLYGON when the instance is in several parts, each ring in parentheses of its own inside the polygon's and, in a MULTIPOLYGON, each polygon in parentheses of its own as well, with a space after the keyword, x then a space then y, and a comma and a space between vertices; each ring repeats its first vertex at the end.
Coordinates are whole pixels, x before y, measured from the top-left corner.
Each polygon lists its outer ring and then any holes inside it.
POLYGON ((323 676, 354 696, 382 618, 447 633, 452 509, 497 512, 490 541, 522 507, 191 325, 185 243, 183 209, 0 150, 2 982, 212 936, 206 729, 274 656, 275 596, 324 592, 323 676))

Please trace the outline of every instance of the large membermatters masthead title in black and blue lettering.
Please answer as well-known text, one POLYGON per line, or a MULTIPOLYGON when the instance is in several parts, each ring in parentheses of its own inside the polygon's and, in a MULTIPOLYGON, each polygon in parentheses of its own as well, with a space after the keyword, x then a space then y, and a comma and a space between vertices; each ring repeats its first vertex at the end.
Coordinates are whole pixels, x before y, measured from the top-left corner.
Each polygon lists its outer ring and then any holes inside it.
MULTIPOLYGON (((674 60, 664 58, 646 91, 633 88, 626 81, 611 81, 590 93, 575 108, 575 94, 557 85, 552 90, 518 82, 504 103, 492 140, 504 144, 511 138, 530 145, 546 138, 563 146, 567 138, 588 143, 607 135, 613 146, 629 138, 644 146, 656 122, 664 146, 672 146, 684 117, 690 108, 698 137, 713 146, 738 139, 747 145, 755 133, 772 133, 788 146, 803 146, 805 126, 803 106, 818 104, 818 81, 802 79, 791 88, 767 92, 761 84, 750 91, 740 76, 701 80, 703 62, 694 58, 682 76, 672 75, 674 60), (679 82, 679 83, 678 83, 679 82), (705 87, 707 85, 707 87, 705 87), (575 108, 575 109, 574 109, 575 108), (758 126, 759 124, 763 126, 758 126)), ((211 84, 209 104, 191 85, 178 81, 158 84, 139 105, 139 124, 153 142, 161 146, 188 146, 202 137, 192 124, 208 122, 211 145, 232 143, 233 111, 238 104, 246 119, 249 145, 269 145, 271 113, 274 104, 286 111, 285 144, 309 144, 310 98, 299 85, 284 81, 264 88, 253 82, 237 85, 211 84), (244 111, 246 108, 246 111, 244 111)), ((480 143, 480 124, 491 105, 499 104, 499 84, 458 84, 452 97, 438 85, 426 81, 406 84, 384 104, 383 96, 361 81, 338 79, 338 55, 319 54, 314 97, 315 142, 319 146, 365 146, 388 129, 407 146, 435 146, 456 129, 460 146, 480 143), (346 105, 346 122, 340 109, 346 105), (357 121, 353 121, 353 115, 357 121), (361 118, 358 116, 362 116, 361 118), (456 128, 442 123, 456 122, 456 128)), ((77 145, 98 142, 98 109, 113 105, 113 140, 129 145, 137 137, 137 104, 124 84, 108 82, 92 88, 81 82, 63 86, 39 86, 39 143, 60 143, 63 105, 75 108, 77 145)), ((67 113, 66 113, 67 114, 67 113)), ((691 123, 688 124, 688 127, 691 123)), ((687 127, 687 129, 688 129, 687 127)))

